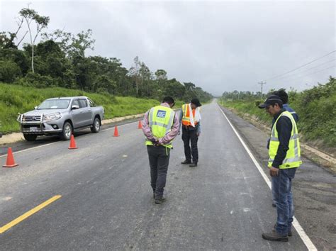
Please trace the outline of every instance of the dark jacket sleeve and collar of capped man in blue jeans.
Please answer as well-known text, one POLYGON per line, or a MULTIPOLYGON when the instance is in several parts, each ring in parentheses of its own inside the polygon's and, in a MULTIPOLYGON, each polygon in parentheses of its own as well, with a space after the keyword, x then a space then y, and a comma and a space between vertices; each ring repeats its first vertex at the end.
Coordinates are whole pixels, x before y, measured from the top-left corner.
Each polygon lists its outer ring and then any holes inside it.
MULTIPOLYGON (((274 122, 277 118, 286 111, 285 108, 282 108, 276 116, 274 116, 274 122)), ((279 168, 279 166, 284 161, 287 151, 289 150, 289 140, 291 138, 291 130, 293 125, 291 123, 291 119, 286 116, 281 116, 276 122, 276 130, 278 131, 278 138, 279 138, 279 147, 276 152, 276 156, 274 157, 274 161, 272 167, 279 168)))

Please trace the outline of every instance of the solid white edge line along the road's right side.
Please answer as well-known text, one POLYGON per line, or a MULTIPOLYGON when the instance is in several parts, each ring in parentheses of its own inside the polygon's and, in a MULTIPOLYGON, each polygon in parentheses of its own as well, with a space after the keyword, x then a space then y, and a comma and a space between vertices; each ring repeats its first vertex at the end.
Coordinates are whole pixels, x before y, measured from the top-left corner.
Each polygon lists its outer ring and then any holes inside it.
MULTIPOLYGON (((247 145, 245 144, 245 142, 242 140, 242 138, 240 137, 239 133, 237 132, 237 130, 235 130, 235 128, 233 127, 232 123, 229 121, 228 117, 225 115, 225 113, 223 112, 223 110, 220 108, 219 105, 218 105, 218 108, 223 113, 223 116, 226 118, 226 120, 230 124, 231 128, 233 128, 233 131, 235 132, 235 135, 237 135, 237 138, 240 140, 240 143, 242 143, 242 146, 245 148, 245 150, 247 151, 247 153, 250 155, 250 157, 252 159, 252 162, 257 167, 257 169, 260 172, 260 174, 262 174, 262 177, 264 178, 264 181, 269 186, 269 189, 271 189, 271 182, 269 181, 269 177, 267 177, 267 175, 264 173, 264 170, 262 169, 262 167, 260 167, 260 164, 257 162, 257 160, 255 159, 255 157, 252 155, 252 152, 247 147, 247 145)), ((293 220, 293 226, 296 229, 296 232, 298 232, 298 235, 300 235, 303 243, 305 243, 305 245, 308 248, 308 250, 312 250, 312 251, 313 250, 318 250, 315 247, 315 245, 313 244, 313 242, 310 240, 310 238, 308 237, 308 235, 306 234, 305 230, 303 230, 303 228, 301 227, 300 223, 298 223, 298 220, 296 220, 295 217, 293 217, 293 218, 294 218, 294 220, 293 220)))

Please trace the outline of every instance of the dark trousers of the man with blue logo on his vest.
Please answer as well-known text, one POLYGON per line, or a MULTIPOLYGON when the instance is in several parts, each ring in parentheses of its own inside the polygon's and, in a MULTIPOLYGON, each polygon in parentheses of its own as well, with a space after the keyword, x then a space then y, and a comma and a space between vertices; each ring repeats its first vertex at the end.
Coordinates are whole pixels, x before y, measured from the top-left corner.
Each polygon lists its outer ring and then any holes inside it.
POLYGON ((170 149, 160 146, 147 145, 150 160, 150 186, 155 193, 155 199, 161 199, 166 186, 170 149))

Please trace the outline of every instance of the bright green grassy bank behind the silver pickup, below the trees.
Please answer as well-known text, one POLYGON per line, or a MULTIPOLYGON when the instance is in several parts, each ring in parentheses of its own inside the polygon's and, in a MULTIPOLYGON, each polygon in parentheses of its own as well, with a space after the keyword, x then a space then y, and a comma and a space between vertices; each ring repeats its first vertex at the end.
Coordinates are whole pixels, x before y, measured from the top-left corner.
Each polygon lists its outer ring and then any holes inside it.
MULTIPOLYGON (((112 96, 111 94, 92 94, 85 91, 64 89, 22 87, 0 83, 0 131, 13 133, 19 131, 16 121, 18 113, 33 110, 43 100, 57 96, 88 96, 97 105, 105 109, 105 118, 123 117, 144 113, 152 106, 159 104, 155 99, 138 99, 134 97, 112 96)), ((183 102, 178 101, 175 107, 183 102)))

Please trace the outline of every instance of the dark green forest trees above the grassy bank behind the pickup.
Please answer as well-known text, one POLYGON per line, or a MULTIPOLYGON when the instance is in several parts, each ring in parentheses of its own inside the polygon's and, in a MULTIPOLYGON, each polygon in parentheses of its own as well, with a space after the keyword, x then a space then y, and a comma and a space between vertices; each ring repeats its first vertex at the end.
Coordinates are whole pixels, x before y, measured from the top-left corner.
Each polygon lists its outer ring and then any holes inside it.
POLYGON ((18 12, 17 23, 17 30, 0 32, 0 82, 157 100, 164 96, 183 101, 194 97, 203 102, 212 99, 211 94, 191 82, 168 79, 164 69, 151 72, 139 57, 134 58, 130 69, 115 57, 86 57, 87 50, 94 50, 90 29, 77 35, 65 30, 50 33, 50 18, 29 8, 18 12), (18 34, 24 29, 30 40, 21 48, 21 41, 26 40, 18 34))

